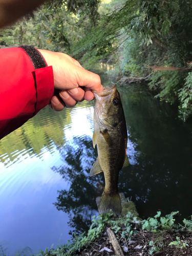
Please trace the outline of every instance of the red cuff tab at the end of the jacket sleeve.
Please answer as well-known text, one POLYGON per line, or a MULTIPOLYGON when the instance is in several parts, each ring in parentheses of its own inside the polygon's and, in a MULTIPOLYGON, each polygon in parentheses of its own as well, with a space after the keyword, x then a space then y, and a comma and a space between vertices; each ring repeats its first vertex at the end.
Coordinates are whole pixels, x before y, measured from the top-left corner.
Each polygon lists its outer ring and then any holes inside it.
POLYGON ((52 66, 36 69, 34 73, 37 92, 37 102, 34 113, 34 115, 36 115, 41 109, 45 108, 45 106, 50 103, 54 93, 54 78, 52 66))

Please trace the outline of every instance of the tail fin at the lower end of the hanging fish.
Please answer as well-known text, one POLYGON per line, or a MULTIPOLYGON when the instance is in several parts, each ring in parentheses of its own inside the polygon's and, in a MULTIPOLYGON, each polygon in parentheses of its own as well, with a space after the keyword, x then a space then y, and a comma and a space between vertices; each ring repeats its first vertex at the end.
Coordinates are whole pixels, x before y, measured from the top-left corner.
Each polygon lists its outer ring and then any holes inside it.
POLYGON ((104 214, 104 212, 112 209, 115 214, 120 215, 121 214, 121 201, 119 197, 119 193, 115 195, 106 194, 105 191, 103 191, 103 194, 101 196, 98 211, 99 214, 104 214))

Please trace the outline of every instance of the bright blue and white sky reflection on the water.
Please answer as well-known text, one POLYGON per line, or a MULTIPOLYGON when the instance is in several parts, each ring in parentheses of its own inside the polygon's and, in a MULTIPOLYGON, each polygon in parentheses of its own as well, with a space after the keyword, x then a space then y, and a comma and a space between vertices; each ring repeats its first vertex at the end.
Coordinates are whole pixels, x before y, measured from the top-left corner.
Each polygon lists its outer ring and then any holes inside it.
MULTIPOLYGON (((9 248, 9 252, 16 252, 26 246, 38 251, 40 248, 50 247, 52 243, 57 245, 61 234, 60 243, 66 243, 70 239, 69 212, 58 211, 53 205, 58 196, 57 190, 63 187, 69 190, 70 179, 62 179, 52 168, 63 165, 60 159, 61 147, 66 144, 77 147, 73 142, 74 137, 88 136, 91 141, 93 124, 89 118, 93 111, 94 107, 86 107, 84 102, 80 108, 77 106, 73 110, 54 113, 63 120, 69 115, 70 120, 66 124, 63 121, 63 127, 50 125, 49 136, 44 133, 49 146, 38 141, 37 134, 33 135, 38 120, 50 118, 49 109, 38 113, 33 118, 37 120, 31 119, 22 126, 19 135, 15 131, 0 142, 0 209, 1 220, 4 220, 0 224, 0 241, 9 248), (62 137, 57 136, 58 130, 63 130, 62 137), (12 141, 16 136, 19 138, 15 140, 15 146, 12 141), (38 146, 29 146, 30 140, 42 146, 40 152, 38 146), (13 150, 14 147, 20 150, 11 152, 11 147, 13 150), (2 154, 6 148, 9 148, 9 153, 2 154)), ((47 126, 44 123, 43 127, 47 126)), ((57 124, 57 120, 55 123, 57 124)))

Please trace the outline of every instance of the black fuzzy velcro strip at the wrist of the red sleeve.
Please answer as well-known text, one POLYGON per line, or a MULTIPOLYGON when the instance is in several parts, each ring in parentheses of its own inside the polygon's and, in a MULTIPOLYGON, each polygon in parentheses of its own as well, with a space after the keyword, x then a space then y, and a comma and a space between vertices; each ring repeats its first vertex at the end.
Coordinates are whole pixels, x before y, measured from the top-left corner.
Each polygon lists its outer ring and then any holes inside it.
POLYGON ((46 68, 47 64, 42 55, 32 46, 20 46, 19 48, 24 49, 27 55, 30 57, 33 67, 35 69, 46 68))

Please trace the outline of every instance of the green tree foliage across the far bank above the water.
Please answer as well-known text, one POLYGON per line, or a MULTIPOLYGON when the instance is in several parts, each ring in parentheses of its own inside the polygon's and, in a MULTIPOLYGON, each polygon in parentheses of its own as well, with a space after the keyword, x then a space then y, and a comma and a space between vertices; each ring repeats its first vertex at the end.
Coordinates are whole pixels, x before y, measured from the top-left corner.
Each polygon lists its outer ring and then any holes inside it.
MULTIPOLYGON (((65 52, 85 68, 116 63, 119 75, 145 77, 146 65, 186 67, 192 59, 192 9, 182 0, 55 0, 0 31, 0 48, 33 45, 65 52)), ((150 89, 179 115, 192 114, 191 72, 152 72, 150 89)))

